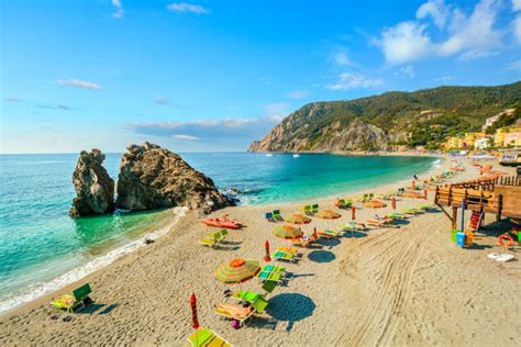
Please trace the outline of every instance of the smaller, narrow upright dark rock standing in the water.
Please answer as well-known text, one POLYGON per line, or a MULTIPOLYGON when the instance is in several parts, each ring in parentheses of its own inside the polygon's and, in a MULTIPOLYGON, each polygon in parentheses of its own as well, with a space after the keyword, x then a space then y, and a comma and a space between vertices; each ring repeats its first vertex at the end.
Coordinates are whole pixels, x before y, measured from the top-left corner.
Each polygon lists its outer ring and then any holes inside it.
POLYGON ((99 149, 82 150, 73 174, 77 197, 69 214, 73 217, 114 211, 114 181, 102 166, 104 154, 99 149))

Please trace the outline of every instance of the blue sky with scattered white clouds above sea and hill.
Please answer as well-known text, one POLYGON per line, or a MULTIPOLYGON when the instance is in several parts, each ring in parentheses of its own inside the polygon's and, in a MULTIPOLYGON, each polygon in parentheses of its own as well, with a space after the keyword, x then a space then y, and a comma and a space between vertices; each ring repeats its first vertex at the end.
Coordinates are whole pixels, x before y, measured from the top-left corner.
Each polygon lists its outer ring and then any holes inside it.
POLYGON ((314 101, 521 79, 521 0, 0 2, 0 153, 246 150, 314 101))

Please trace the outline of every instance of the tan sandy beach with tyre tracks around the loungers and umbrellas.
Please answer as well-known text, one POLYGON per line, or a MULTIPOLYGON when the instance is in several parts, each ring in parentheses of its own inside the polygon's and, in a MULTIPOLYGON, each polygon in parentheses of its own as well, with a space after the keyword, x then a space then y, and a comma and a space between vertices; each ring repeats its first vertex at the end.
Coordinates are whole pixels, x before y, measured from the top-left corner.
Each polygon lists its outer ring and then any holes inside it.
MULTIPOLYGON (((463 181, 478 176, 466 171, 452 178, 463 181)), ((442 163, 435 172, 450 166, 442 163)), ((503 170, 503 169, 502 169, 503 170)), ((364 192, 388 192, 410 180, 364 192)), ((348 194, 356 198, 358 193, 348 194)), ((340 198, 345 198, 341 195, 340 198)), ((432 193, 430 193, 432 200, 432 193)), ((321 208, 339 211, 333 199, 317 199, 321 208)), ((424 201, 400 198, 398 211, 424 201)), ((262 260, 264 242, 286 245, 270 231, 276 225, 264 213, 280 209, 292 214, 306 202, 263 206, 236 206, 218 211, 246 226, 231 231, 219 249, 198 245, 212 231, 192 213, 154 244, 124 256, 109 267, 60 290, 66 293, 89 282, 95 303, 68 314, 48 302, 58 293, 41 298, 0 318, 0 345, 168 345, 179 346, 192 332, 188 296, 198 296, 199 322, 234 346, 518 346, 520 344, 519 261, 496 262, 486 257, 503 251, 499 232, 486 227, 479 246, 463 249, 450 237, 450 221, 443 213, 425 213, 399 227, 372 228, 321 240, 320 247, 302 248, 302 259, 287 265, 287 282, 275 289, 263 315, 247 326, 232 328, 230 321, 213 313, 225 302, 223 292, 237 287, 214 278, 214 270, 233 258, 262 260), (71 316, 69 322, 64 317, 71 316)), ((386 209, 357 210, 364 221, 386 209)), ((359 203, 357 204, 361 205, 359 203)), ((340 220, 317 217, 302 228, 337 230, 351 221, 351 211, 340 220)), ((494 216, 487 215, 486 224, 494 216)), ((279 223, 280 224, 280 223, 279 223)), ((256 279, 242 289, 259 290, 256 279)), ((229 300, 229 299, 228 299, 229 300)))

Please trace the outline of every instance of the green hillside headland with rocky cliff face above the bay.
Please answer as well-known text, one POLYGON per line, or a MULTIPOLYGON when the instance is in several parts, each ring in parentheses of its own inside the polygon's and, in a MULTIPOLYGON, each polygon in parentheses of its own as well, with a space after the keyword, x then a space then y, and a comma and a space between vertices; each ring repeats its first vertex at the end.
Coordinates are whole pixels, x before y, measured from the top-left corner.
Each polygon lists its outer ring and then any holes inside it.
MULTIPOLYGON (((507 108, 519 108, 521 81, 497 87, 439 87, 355 100, 313 102, 284 119, 250 152, 437 149, 507 108), (363 125, 361 125, 363 124, 363 125)), ((519 117, 519 111, 516 113, 519 117)), ((497 126, 513 122, 501 120, 497 126)))

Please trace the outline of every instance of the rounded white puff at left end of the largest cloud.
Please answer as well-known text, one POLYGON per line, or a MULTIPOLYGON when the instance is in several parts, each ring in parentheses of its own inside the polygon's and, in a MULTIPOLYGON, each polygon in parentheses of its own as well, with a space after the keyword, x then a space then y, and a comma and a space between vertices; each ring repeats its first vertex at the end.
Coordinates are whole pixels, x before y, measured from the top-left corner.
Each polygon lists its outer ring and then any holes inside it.
POLYGON ((402 22, 385 30, 378 45, 381 46, 386 60, 403 64, 426 56, 432 51, 432 43, 424 31, 424 25, 414 22, 402 22))

